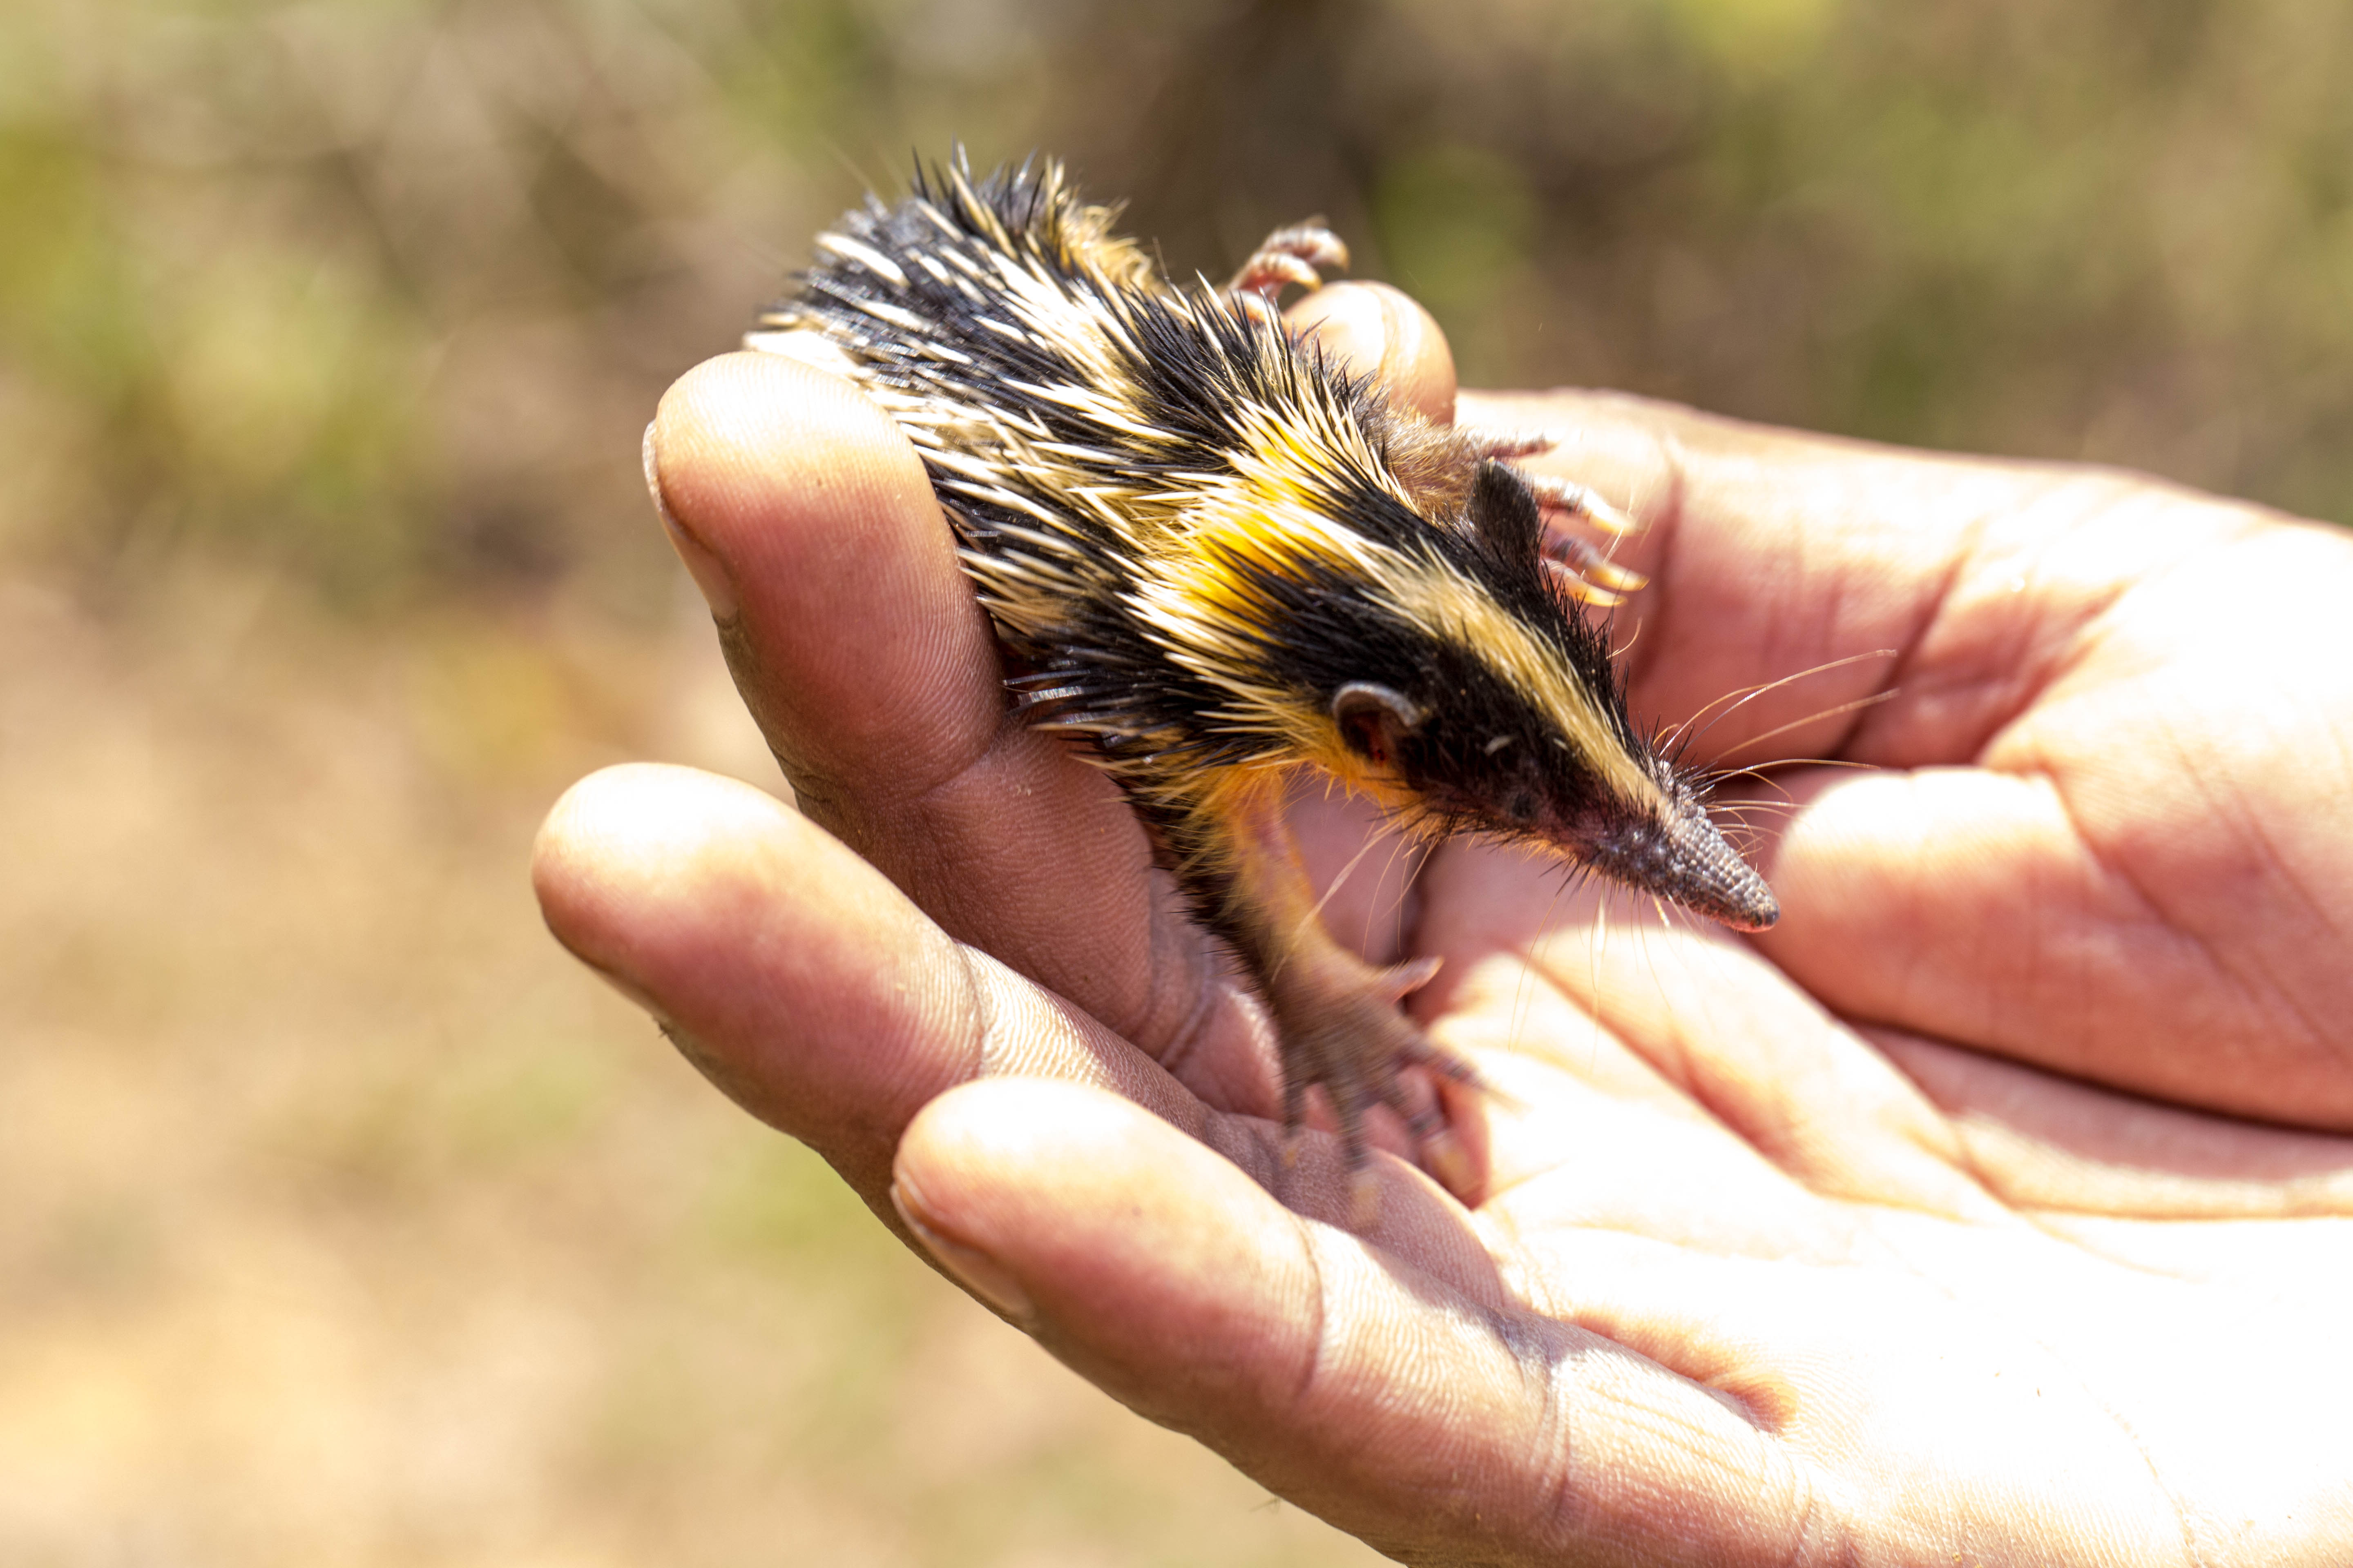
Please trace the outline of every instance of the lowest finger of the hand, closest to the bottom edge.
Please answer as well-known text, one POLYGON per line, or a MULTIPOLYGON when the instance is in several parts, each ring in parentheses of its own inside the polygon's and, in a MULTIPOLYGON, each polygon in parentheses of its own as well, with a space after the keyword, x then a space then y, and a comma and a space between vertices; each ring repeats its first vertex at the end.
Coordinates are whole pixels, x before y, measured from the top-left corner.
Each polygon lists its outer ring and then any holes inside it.
POLYGON ((1101 1093, 951 1093, 908 1128, 894 1192, 1056 1356, 1393 1556, 1798 1544, 1772 1516, 1793 1476, 1737 1401, 1301 1222, 1101 1093))

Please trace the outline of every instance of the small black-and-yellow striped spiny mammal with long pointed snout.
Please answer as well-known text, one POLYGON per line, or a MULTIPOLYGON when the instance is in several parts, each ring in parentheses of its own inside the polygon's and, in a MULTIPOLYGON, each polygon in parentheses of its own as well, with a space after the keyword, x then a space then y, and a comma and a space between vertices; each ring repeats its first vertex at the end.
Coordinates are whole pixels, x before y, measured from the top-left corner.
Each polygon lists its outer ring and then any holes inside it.
POLYGON ((1445 1114, 1398 1077, 1478 1081, 1398 1011, 1435 964, 1372 969, 1325 933, 1282 818, 1299 769, 1417 832, 1537 844, 1741 931, 1779 907, 1704 780, 1628 719, 1584 607, 1640 578, 1544 510, 1626 517, 1504 461, 1548 440, 1400 411, 1261 308, 1346 263, 1318 223, 1212 289, 1155 277, 1113 219, 1054 162, 974 179, 958 153, 819 235, 748 341, 821 334, 922 454, 1016 708, 1125 788, 1242 959, 1285 1121, 1325 1088, 1360 1218, 1374 1103, 1464 1190, 1445 1114))

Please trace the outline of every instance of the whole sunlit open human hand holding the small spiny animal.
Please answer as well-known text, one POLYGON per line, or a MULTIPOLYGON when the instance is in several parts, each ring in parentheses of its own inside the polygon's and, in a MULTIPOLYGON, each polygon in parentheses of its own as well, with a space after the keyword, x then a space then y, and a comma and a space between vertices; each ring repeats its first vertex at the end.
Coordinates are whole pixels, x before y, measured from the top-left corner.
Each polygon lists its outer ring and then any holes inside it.
MULTIPOLYGON (((1454 411, 1402 296, 1313 310, 1454 411)), ((1501 1091, 1478 1208, 1379 1157, 1351 1234, 1334 1143, 1285 1161, 1257 1004, 1007 719, 915 456, 793 362, 699 367, 649 451, 807 816, 598 773, 551 926, 995 1312, 1393 1556, 2353 1561, 2353 543, 1626 397, 1459 416, 1645 520, 1638 715, 1887 651, 1694 741, 1861 764, 1751 790, 1774 931, 1358 860, 1329 929, 1442 959, 1409 1006, 1501 1091)))

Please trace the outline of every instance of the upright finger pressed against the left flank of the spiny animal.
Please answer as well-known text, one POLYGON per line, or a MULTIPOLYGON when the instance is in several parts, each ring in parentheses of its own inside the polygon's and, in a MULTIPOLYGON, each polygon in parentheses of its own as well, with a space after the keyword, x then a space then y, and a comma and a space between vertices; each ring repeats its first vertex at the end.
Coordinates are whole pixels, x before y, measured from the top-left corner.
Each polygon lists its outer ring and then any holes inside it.
POLYGON ((666 520, 802 806, 958 940, 1184 1058, 1266 1084, 1257 1018, 1176 912, 1118 790, 1007 717, 922 463, 847 381, 779 355, 689 371, 652 433, 666 520))

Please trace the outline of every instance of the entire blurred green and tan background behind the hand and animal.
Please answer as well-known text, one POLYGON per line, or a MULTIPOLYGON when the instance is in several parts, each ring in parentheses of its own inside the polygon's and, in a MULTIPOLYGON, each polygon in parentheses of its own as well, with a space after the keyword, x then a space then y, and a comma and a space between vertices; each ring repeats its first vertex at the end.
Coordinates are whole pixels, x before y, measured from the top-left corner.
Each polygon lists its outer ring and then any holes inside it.
POLYGON ((781 788, 638 433, 913 150, 1468 383, 2353 520, 2315 0, 0 7, 0 1561, 1360 1563, 896 1253, 539 929, 781 788))

